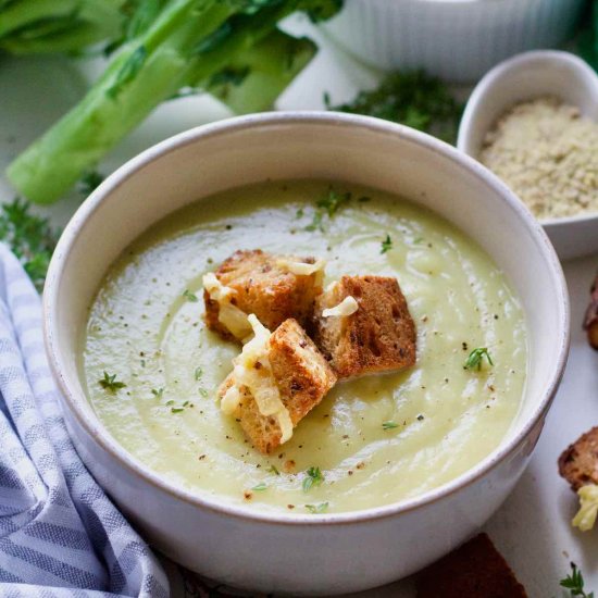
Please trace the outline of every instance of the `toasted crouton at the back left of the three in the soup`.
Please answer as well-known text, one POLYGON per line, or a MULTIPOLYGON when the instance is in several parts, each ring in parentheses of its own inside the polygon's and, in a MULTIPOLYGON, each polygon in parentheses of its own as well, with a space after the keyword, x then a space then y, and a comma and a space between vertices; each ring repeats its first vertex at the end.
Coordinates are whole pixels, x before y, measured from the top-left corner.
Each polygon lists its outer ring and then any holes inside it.
POLYGON ((314 258, 236 251, 215 272, 211 286, 204 282, 205 323, 224 338, 238 340, 251 331, 242 320, 238 325, 239 314, 254 313, 271 331, 289 317, 304 325, 322 292, 323 273, 324 262, 314 258))

